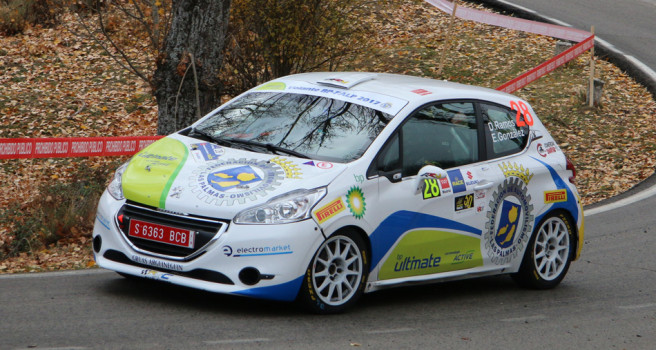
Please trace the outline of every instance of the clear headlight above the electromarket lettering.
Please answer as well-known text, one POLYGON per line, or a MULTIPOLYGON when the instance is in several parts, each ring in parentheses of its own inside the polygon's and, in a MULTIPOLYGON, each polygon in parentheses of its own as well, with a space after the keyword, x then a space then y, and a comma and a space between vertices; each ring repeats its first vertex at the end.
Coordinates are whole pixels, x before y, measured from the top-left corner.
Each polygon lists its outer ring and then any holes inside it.
POLYGON ((266 204, 235 216, 236 224, 288 224, 309 219, 311 210, 326 195, 326 188, 295 190, 271 198, 266 204))

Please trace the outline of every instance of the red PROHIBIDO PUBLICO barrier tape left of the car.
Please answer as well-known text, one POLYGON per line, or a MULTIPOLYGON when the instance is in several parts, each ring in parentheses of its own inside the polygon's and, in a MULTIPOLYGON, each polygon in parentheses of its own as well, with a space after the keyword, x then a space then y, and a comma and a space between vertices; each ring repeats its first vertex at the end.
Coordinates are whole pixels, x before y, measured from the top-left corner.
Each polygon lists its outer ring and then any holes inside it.
POLYGON ((131 155, 163 136, 0 139, 0 159, 131 155))

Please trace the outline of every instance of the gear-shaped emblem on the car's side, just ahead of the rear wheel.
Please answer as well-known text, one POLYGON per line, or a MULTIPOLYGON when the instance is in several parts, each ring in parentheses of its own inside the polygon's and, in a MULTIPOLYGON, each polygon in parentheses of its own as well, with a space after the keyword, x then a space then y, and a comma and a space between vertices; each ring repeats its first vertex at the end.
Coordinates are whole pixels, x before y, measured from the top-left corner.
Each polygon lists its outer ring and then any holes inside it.
POLYGON ((516 258, 533 228, 533 205, 524 182, 506 179, 492 195, 483 240, 493 263, 507 264, 516 258))

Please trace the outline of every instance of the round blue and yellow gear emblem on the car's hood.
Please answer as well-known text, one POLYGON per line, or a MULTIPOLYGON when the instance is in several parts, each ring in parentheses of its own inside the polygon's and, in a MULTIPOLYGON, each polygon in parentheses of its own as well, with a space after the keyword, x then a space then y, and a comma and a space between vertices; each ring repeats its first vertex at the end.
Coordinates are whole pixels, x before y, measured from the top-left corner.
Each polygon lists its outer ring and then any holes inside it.
POLYGON ((244 204, 266 196, 283 177, 284 172, 274 163, 245 158, 218 160, 195 171, 189 178, 189 188, 208 204, 244 204))

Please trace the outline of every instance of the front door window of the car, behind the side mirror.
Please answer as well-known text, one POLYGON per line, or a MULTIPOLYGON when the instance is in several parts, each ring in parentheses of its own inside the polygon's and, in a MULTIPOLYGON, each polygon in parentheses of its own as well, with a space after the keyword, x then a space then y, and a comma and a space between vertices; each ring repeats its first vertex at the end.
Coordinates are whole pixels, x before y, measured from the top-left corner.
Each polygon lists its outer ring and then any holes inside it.
POLYGON ((425 165, 442 169, 478 161, 478 134, 473 103, 422 107, 401 128, 403 176, 425 165))

